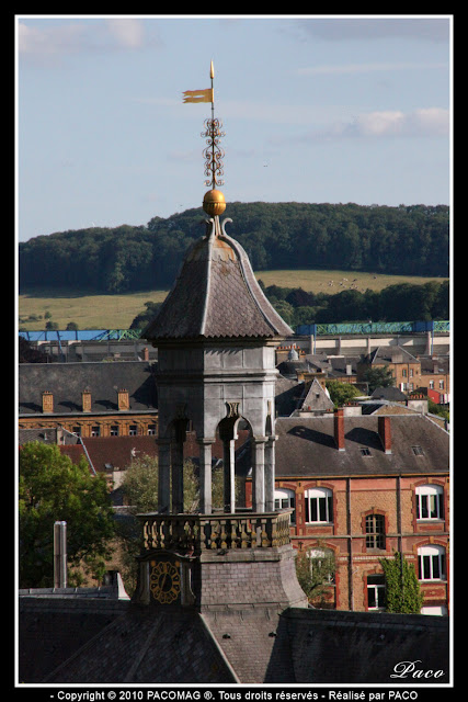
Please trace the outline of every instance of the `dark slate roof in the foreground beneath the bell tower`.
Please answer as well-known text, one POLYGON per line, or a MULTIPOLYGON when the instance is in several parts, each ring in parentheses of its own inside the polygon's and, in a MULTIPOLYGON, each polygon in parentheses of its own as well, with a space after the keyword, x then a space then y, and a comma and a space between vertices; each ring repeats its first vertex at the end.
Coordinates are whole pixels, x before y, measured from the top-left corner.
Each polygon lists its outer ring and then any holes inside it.
MULTIPOLYGON (((132 602, 20 598, 26 683, 396 683, 422 660, 449 680, 448 618, 289 608, 197 613, 132 602), (372 661, 372 665, 369 665, 372 661)), ((412 679, 411 684, 426 683, 412 679)))

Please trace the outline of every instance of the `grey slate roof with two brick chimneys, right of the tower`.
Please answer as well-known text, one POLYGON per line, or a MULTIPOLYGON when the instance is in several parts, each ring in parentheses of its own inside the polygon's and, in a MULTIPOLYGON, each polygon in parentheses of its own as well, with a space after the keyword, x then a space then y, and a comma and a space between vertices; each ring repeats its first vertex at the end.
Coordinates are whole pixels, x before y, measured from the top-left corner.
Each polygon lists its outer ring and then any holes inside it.
POLYGON ((391 454, 378 434, 377 416, 344 417, 345 450, 338 451, 334 417, 278 417, 275 473, 287 476, 412 475, 447 473, 449 437, 422 415, 391 415, 391 454), (415 455, 412 446, 421 446, 415 455), (370 456, 363 456, 367 448, 370 456))

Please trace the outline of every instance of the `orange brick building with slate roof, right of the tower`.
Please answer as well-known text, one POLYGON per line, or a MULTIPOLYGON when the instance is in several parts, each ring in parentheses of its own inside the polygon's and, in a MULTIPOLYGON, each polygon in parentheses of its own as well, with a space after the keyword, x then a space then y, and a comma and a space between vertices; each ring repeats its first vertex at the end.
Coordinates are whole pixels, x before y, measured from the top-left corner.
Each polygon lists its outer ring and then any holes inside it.
MULTIPOLYGON (((294 546, 311 567, 334 562, 320 607, 384 607, 379 559, 404 554, 424 593, 424 613, 449 607, 449 441, 418 414, 334 415, 276 420, 276 507, 294 508, 294 546)), ((250 486, 247 486, 249 495, 250 486)))

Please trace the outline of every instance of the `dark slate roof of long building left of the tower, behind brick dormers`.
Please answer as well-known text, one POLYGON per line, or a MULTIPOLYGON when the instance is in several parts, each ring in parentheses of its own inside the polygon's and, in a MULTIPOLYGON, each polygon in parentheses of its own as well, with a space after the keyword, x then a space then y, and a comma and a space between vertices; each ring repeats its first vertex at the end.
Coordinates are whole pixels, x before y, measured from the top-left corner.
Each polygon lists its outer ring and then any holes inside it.
POLYGON ((118 411, 117 392, 128 390, 130 411, 158 406, 152 364, 145 361, 111 363, 20 363, 19 412, 42 414, 42 393, 54 395, 54 414, 82 411, 81 393, 91 390, 91 411, 118 411))

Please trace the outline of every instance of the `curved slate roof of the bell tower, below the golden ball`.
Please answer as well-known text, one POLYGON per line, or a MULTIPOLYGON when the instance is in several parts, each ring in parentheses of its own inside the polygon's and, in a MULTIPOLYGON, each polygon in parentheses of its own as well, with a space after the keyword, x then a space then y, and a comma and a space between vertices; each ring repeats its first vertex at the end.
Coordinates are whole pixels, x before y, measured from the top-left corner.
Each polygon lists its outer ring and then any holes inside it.
POLYGON ((174 285, 141 332, 152 341, 284 338, 293 329, 269 303, 243 248, 210 219, 189 249, 174 285))

